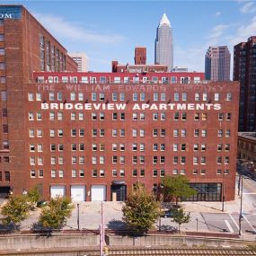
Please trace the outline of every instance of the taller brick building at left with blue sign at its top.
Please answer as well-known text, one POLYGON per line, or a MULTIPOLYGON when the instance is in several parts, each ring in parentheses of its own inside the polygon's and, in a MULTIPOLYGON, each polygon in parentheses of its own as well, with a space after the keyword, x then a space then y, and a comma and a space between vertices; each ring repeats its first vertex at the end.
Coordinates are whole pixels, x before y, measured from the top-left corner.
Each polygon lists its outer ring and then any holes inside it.
MULTIPOLYGON (((66 49, 21 5, 0 5, 0 195, 21 192, 25 178, 24 84, 33 71, 76 71, 66 49)), ((25 118, 26 117, 26 118, 25 118)))

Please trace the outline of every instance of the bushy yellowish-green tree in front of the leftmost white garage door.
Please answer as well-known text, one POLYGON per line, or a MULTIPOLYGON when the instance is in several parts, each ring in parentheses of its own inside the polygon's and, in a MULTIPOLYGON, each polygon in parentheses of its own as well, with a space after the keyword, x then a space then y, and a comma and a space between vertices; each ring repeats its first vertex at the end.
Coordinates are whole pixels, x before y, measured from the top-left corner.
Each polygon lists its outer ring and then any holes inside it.
POLYGON ((57 197, 50 199, 49 204, 42 208, 39 223, 48 228, 58 229, 66 223, 71 216, 74 205, 71 199, 57 197))

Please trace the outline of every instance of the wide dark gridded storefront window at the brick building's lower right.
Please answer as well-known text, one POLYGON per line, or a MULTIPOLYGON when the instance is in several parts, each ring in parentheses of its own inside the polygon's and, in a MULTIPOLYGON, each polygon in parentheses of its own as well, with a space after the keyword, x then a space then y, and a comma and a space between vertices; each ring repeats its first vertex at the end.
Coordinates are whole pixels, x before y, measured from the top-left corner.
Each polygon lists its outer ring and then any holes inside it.
POLYGON ((221 183, 190 183, 190 187, 197 190, 197 194, 184 201, 220 201, 221 183))

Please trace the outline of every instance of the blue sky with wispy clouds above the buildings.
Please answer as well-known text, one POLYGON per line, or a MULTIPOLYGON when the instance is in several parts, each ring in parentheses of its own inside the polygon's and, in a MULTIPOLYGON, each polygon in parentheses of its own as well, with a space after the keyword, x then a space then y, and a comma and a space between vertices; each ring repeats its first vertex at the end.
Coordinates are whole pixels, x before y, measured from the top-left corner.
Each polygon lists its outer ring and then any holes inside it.
MULTIPOLYGON (((113 59, 134 63, 146 46, 154 63, 155 31, 165 12, 172 24, 174 66, 204 71, 212 45, 235 44, 256 35, 256 2, 236 1, 2 1, 24 4, 69 52, 85 52, 89 69, 110 71, 113 59)), ((2 4, 1 3, 1 4, 2 4)))

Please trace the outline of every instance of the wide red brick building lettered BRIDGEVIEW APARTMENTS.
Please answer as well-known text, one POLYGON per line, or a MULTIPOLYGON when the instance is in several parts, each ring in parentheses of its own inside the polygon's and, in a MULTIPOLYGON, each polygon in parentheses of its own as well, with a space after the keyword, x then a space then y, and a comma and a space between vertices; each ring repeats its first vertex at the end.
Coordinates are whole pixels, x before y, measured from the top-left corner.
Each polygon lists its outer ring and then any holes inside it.
POLYGON ((153 190, 184 174, 199 191, 191 200, 221 200, 223 186, 234 199, 239 84, 197 75, 35 73, 24 99, 28 186, 123 200, 137 181, 153 190))

